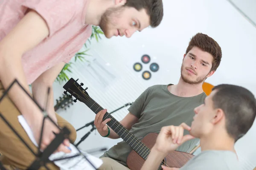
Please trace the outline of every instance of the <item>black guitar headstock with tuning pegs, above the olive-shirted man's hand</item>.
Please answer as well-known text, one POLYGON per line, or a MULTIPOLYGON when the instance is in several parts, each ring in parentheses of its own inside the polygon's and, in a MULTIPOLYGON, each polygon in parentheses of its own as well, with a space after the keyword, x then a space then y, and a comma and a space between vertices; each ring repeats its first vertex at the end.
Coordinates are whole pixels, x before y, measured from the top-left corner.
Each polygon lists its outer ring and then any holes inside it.
POLYGON ((76 102, 77 100, 79 100, 80 102, 85 103, 88 99, 89 94, 87 93, 87 89, 88 88, 82 88, 82 86, 84 85, 84 83, 79 83, 77 82, 77 80, 74 80, 73 78, 70 78, 67 83, 63 86, 63 88, 66 90, 64 91, 64 94, 67 94, 67 92, 70 93, 70 97, 74 96, 76 99, 74 99, 73 101, 76 102))

